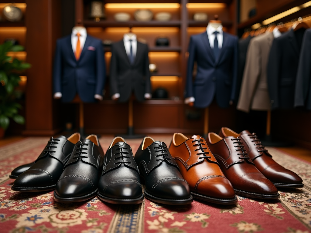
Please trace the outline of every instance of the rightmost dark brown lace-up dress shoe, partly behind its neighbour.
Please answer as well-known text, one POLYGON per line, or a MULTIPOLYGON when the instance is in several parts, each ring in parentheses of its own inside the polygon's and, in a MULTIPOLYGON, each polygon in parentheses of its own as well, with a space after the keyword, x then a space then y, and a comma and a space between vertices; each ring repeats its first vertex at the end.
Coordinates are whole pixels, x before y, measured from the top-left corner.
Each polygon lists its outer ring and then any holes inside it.
POLYGON ((272 155, 262 146, 255 133, 248 130, 240 134, 222 127, 220 137, 234 136, 239 137, 245 145, 246 153, 252 159, 257 169, 266 176, 272 183, 279 188, 302 188, 302 179, 295 172, 287 170, 272 159, 272 155))

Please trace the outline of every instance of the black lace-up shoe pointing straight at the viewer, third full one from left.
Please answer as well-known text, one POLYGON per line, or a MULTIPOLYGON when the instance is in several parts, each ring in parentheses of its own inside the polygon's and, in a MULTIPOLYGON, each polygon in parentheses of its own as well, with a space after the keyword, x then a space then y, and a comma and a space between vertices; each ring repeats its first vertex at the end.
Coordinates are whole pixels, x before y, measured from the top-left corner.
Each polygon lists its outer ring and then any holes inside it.
POLYGON ((121 137, 112 140, 104 157, 97 195, 113 204, 138 204, 144 199, 132 149, 121 137))

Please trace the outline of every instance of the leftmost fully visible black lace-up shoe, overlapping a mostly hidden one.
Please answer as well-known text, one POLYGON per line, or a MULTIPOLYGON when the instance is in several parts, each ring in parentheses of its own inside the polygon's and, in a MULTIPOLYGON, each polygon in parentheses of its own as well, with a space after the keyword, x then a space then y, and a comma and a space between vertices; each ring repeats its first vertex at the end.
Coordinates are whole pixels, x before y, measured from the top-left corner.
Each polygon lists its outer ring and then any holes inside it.
POLYGON ((74 133, 69 138, 65 136, 52 137, 35 164, 14 180, 12 190, 20 192, 53 190, 63 172, 65 163, 79 140, 79 133, 74 133))

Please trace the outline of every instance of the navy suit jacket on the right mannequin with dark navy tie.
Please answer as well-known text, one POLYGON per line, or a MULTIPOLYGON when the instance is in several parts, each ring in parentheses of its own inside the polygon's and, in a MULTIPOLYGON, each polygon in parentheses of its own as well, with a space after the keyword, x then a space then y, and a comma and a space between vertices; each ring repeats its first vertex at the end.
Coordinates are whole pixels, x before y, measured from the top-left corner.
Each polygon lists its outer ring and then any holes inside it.
POLYGON ((220 107, 235 99, 238 71, 238 37, 223 33, 223 43, 215 59, 206 32, 193 35, 189 43, 185 97, 195 98, 194 107, 208 107, 216 95, 220 107), (197 61, 197 76, 192 71, 197 61))

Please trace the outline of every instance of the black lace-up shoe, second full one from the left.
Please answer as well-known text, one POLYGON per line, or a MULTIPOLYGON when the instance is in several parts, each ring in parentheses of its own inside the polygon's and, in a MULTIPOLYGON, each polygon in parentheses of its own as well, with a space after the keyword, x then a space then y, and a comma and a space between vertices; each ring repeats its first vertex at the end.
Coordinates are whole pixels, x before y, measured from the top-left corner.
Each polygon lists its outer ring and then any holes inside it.
POLYGON ((57 202, 81 202, 97 195, 104 152, 96 135, 77 142, 55 191, 57 202))

